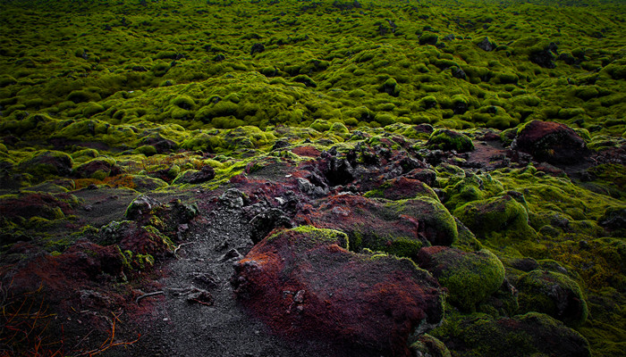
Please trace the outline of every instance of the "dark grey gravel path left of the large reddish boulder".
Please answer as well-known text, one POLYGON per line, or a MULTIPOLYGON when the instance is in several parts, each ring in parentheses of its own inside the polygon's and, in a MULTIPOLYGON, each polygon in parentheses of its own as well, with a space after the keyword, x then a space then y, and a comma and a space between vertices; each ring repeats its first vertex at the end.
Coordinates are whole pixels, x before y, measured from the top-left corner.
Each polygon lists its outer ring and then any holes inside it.
MULTIPOLYGON (((241 209, 216 203, 200 212, 190 227, 178 259, 164 262, 163 295, 139 303, 152 303, 153 316, 143 321, 145 336, 116 355, 132 356, 322 356, 319 345, 290 345, 273 336, 238 305, 229 279, 239 254, 253 243, 241 209), (206 290, 211 305, 189 301, 196 290, 206 290)), ((148 293, 148 292, 146 292, 148 293)))

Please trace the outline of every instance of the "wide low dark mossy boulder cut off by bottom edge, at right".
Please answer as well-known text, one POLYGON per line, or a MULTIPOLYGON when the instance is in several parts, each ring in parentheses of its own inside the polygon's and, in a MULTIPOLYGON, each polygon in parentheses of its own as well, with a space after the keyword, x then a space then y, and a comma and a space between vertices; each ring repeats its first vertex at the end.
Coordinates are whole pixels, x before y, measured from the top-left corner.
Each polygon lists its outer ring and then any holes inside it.
POLYGON ((458 356, 591 356, 585 337, 537 312, 503 319, 482 313, 448 316, 430 334, 458 356))

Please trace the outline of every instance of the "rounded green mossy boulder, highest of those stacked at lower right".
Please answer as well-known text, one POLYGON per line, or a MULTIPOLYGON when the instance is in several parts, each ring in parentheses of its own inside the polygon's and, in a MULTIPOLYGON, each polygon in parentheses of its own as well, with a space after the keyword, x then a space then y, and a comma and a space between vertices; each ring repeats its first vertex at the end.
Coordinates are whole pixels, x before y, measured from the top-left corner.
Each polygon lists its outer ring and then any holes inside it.
POLYGON ((466 203, 453 214, 479 237, 514 240, 536 237, 537 232, 529 226, 527 208, 516 197, 505 194, 466 203))

